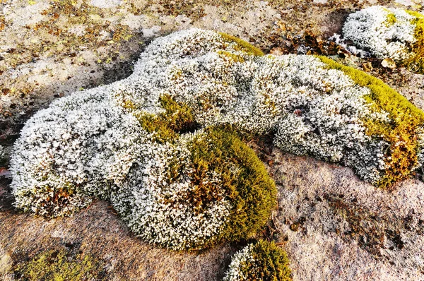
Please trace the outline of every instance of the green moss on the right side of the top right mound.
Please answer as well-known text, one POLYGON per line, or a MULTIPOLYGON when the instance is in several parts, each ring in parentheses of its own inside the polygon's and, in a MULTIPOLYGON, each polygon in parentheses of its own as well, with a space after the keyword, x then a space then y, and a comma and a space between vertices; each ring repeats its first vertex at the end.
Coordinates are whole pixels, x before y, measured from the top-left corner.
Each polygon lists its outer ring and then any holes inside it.
POLYGON ((413 56, 407 59, 404 64, 408 66, 411 71, 416 73, 424 73, 424 15, 406 10, 406 13, 416 17, 413 19, 412 24, 416 26, 414 30, 415 42, 411 46, 413 56))

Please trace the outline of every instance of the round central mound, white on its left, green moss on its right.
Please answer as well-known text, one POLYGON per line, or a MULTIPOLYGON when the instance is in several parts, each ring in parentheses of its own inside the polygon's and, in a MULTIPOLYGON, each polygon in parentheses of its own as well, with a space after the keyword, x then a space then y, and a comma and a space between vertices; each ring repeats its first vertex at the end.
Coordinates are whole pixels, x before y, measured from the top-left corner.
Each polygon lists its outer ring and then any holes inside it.
POLYGON ((156 121, 161 122, 156 129, 172 132, 167 135, 172 138, 152 147, 162 161, 137 165, 129 177, 138 184, 112 195, 112 205, 131 230, 174 250, 255 237, 276 207, 276 187, 254 151, 228 127, 179 135, 167 121, 156 121), (160 182, 141 181, 143 174, 160 182))

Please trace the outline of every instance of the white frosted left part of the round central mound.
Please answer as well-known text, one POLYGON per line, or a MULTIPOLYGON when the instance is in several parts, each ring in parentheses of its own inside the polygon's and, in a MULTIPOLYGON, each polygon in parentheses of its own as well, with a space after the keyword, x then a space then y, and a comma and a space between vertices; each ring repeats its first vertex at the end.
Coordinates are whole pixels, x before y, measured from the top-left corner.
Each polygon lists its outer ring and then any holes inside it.
MULTIPOLYGON (((221 184, 220 175, 213 173, 201 183, 192 183, 194 167, 187 145, 199 134, 188 134, 175 144, 152 143, 112 196, 124 222, 146 241, 175 250, 201 248, 220 234, 228 219, 231 205, 224 197, 204 205, 201 211, 189 203, 190 192, 199 184, 221 184), (173 169, 179 174, 170 178, 173 169)), ((223 196, 223 189, 220 191, 223 196)))

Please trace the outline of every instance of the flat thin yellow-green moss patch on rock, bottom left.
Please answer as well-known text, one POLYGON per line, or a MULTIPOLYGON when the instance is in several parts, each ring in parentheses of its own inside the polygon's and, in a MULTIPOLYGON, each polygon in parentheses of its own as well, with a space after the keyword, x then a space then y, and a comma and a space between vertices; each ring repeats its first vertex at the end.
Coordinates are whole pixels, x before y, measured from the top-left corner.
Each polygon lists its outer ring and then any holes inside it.
POLYGON ((40 253, 13 271, 19 280, 28 281, 107 280, 100 261, 87 254, 73 256, 65 249, 40 253))

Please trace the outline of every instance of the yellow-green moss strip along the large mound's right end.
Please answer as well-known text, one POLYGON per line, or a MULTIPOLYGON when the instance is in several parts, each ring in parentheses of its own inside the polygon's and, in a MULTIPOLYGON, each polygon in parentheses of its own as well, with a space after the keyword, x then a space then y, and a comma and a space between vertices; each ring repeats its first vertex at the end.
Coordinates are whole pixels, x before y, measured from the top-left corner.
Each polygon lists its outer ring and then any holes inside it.
POLYGON ((382 80, 324 56, 319 56, 319 59, 329 68, 346 73, 356 84, 369 88, 371 94, 366 99, 373 104, 376 111, 389 113, 389 123, 364 120, 370 136, 382 137, 389 143, 384 155, 387 169, 377 186, 387 187, 396 181, 407 179, 418 166, 417 129, 424 122, 424 112, 382 80))

